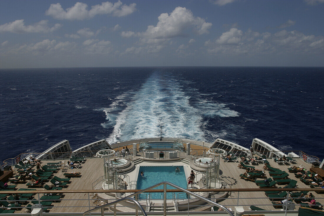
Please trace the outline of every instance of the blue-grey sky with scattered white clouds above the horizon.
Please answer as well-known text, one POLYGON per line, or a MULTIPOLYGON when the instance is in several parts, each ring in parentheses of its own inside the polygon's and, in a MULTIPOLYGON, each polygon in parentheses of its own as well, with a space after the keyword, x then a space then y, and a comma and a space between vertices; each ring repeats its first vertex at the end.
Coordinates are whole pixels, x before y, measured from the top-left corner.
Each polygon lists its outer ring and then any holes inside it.
POLYGON ((0 68, 324 66, 324 0, 0 1, 0 68))

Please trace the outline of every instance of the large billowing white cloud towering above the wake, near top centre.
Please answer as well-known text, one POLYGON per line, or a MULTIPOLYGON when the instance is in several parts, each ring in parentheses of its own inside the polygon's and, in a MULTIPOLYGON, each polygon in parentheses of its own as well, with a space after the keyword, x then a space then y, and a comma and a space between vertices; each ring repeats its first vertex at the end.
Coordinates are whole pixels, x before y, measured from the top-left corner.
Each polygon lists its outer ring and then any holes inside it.
POLYGON ((170 15, 163 13, 158 20, 156 26, 148 26, 141 35, 155 39, 184 37, 191 31, 198 34, 208 33, 208 29, 212 26, 212 23, 205 22, 203 18, 194 17, 185 7, 176 7, 170 15))

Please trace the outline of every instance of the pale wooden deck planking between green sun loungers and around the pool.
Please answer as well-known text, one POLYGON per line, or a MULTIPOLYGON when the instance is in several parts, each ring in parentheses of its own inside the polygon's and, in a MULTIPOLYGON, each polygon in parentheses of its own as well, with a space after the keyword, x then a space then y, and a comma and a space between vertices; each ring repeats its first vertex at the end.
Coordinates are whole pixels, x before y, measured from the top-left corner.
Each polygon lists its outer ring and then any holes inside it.
MULTIPOLYGON (((134 159, 135 160, 135 159, 134 159)), ((273 162, 272 160, 268 159, 270 162, 270 165, 275 168, 279 168, 283 171, 288 172, 289 165, 277 165, 276 162, 273 162)), ((42 165, 46 164, 47 162, 51 161, 44 161, 42 162, 42 165)), ((305 163, 302 159, 297 159, 297 166, 300 164, 303 164, 308 170, 311 167, 311 164, 305 163)), ((151 162, 142 162, 139 165, 145 166, 145 165, 152 165, 151 162)), ((156 163, 154 165, 171 165, 169 163, 156 163)), ((174 166, 181 166, 184 165, 186 169, 186 176, 190 173, 190 166, 188 164, 184 164, 182 162, 173 162, 172 165, 174 166), (187 167, 186 167, 187 166, 187 167), (189 173, 188 173, 189 172, 189 173)), ((225 163, 223 159, 220 161, 220 169, 223 171, 223 176, 226 176, 226 181, 232 182, 232 188, 259 188, 254 182, 245 181, 243 179, 240 179, 239 175, 243 174, 245 172, 244 169, 239 169, 237 167, 238 163, 234 162, 227 162, 225 163)), ((263 164, 260 165, 253 165, 257 169, 263 169, 263 164)), ((130 176, 130 179, 136 180, 138 171, 136 172, 136 169, 138 169, 138 165, 136 166, 135 170, 133 170, 128 175, 130 176)), ((102 158, 92 158, 87 159, 86 162, 82 164, 82 167, 80 169, 68 169, 67 172, 81 172, 81 177, 79 178, 71 178, 71 182, 68 184, 68 187, 66 189, 69 190, 79 190, 79 189, 92 189, 92 183, 96 181, 100 176, 104 175, 104 168, 103 168, 103 159, 102 158)), ((58 177, 64 177, 63 172, 58 171, 58 173, 54 174, 58 177)), ((266 171, 267 177, 270 177, 268 171, 266 171)), ((293 173, 289 173, 290 179, 297 180, 297 185, 299 188, 309 188, 309 186, 305 185, 303 182, 299 181, 299 179, 295 178, 295 175, 293 173)), ((196 181, 201 178, 201 174, 197 175, 196 181)), ((163 181, 163 180, 161 180, 163 181)), ((51 185, 50 182, 46 183, 47 185, 51 185)), ((282 185, 281 187, 284 187, 285 185, 282 185)), ((17 184, 17 188, 27 188, 26 183, 25 184, 17 184)), ((35 190, 44 190, 44 188, 35 188, 35 190)), ((62 192, 64 189, 62 190, 62 192)), ((324 198, 323 194, 317 194, 313 193, 317 198, 324 198)), ((228 206, 233 208, 233 206, 237 206, 237 195, 238 192, 232 192, 231 195, 220 202, 220 204, 228 206), (233 198, 233 199, 230 199, 233 198)), ((34 196, 34 198, 37 199, 38 195, 34 196)), ((84 212, 89 210, 89 203, 88 200, 81 200, 81 199, 87 199, 88 194, 87 193, 67 193, 64 194, 64 198, 62 198, 62 201, 53 203, 53 208, 51 209, 51 212, 84 212), (79 199, 79 200, 69 200, 69 199, 79 199), (75 206, 75 207, 68 207, 68 206, 75 206), (83 206, 83 207, 80 207, 83 206), (63 207, 63 208, 60 208, 63 207)), ((90 195, 91 198, 91 195, 90 195)), ((245 210, 248 210, 250 205, 259 206, 260 208, 266 209, 266 210, 274 210, 272 206, 262 206, 262 205, 271 205, 269 198, 267 198, 264 194, 264 192, 240 192, 239 193, 239 203, 238 206, 246 205, 244 206, 245 210), (257 198, 253 198, 257 197, 257 198), (243 198, 243 199, 242 199, 243 198), (250 199, 253 198, 253 199, 250 199), (260 199, 265 198, 265 199, 260 199)), ((321 203, 324 203, 323 200, 317 200, 321 203)), ((95 207, 95 205, 90 202, 91 209, 95 207)), ((23 212, 26 209, 23 209, 23 212)))

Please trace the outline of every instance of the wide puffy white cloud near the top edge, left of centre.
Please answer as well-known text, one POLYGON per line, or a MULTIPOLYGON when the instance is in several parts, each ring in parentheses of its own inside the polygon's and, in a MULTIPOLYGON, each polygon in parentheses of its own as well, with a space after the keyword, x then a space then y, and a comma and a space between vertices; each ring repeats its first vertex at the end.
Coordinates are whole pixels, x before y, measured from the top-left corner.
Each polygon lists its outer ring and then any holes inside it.
POLYGON ((64 10, 60 3, 56 3, 51 4, 45 14, 55 19, 83 20, 93 18, 99 14, 110 14, 115 17, 123 17, 136 10, 135 3, 127 6, 123 5, 121 1, 114 4, 111 2, 102 2, 100 5, 91 6, 90 10, 88 10, 87 7, 87 4, 77 2, 74 6, 64 10))

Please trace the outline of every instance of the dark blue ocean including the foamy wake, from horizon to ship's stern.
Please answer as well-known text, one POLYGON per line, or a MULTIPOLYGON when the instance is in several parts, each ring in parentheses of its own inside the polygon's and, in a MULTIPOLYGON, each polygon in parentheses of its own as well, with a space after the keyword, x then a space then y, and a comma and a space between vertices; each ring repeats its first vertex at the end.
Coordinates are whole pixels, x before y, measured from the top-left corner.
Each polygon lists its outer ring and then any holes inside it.
POLYGON ((68 139, 76 149, 163 136, 324 157, 324 68, 126 67, 0 70, 0 160, 68 139))

